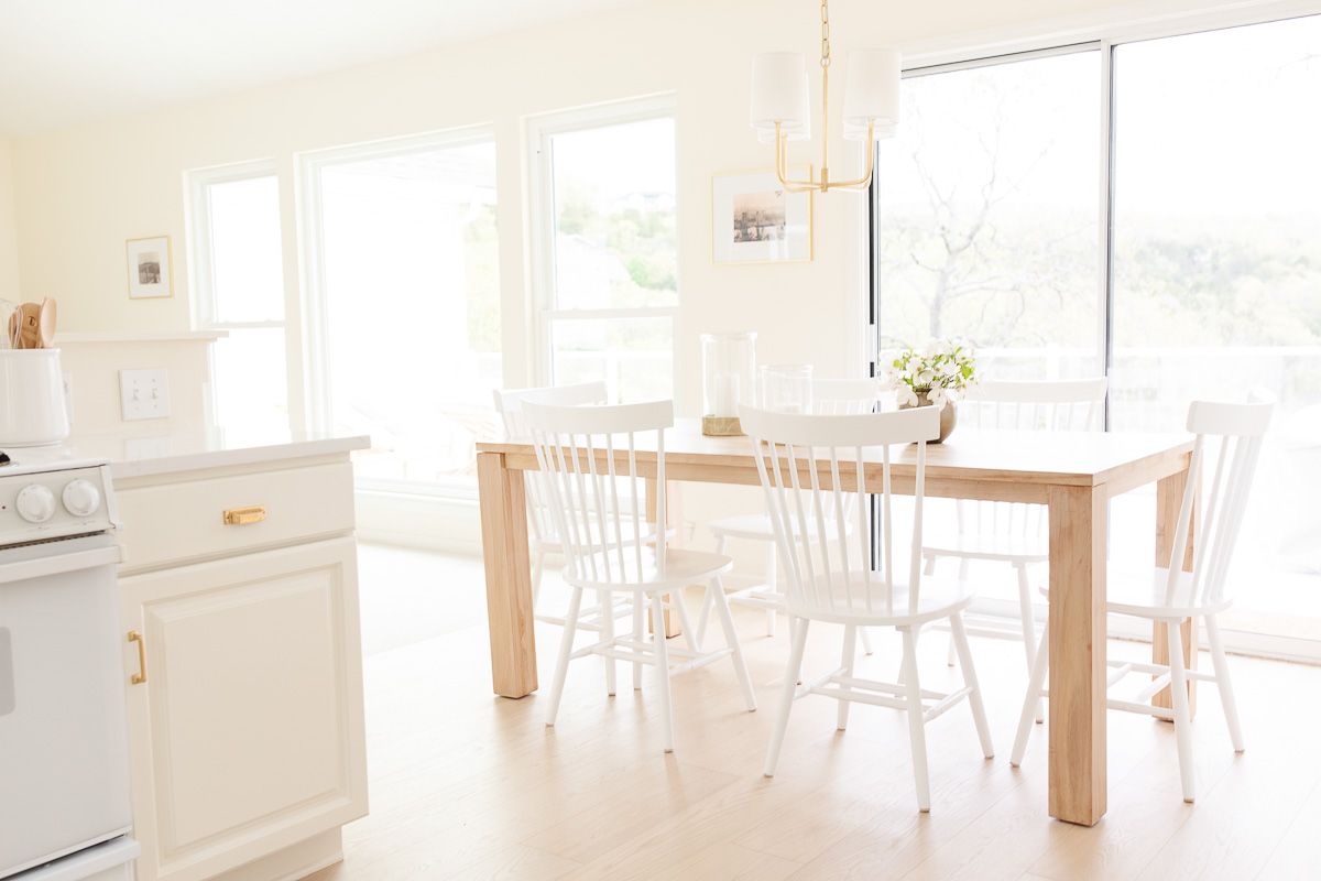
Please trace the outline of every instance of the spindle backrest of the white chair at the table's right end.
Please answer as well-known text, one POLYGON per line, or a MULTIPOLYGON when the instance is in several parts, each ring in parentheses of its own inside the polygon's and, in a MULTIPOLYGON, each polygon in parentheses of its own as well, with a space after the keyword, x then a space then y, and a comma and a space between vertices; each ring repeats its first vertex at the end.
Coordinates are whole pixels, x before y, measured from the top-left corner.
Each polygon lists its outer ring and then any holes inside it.
POLYGON ((1170 551, 1169 577, 1165 604, 1174 602, 1180 571, 1188 555, 1188 536, 1193 526, 1198 499, 1205 491, 1206 505, 1197 516, 1193 581, 1185 600, 1201 605, 1225 597, 1225 576, 1229 573, 1243 511, 1252 489, 1256 460, 1262 453, 1262 440, 1271 424, 1273 403, 1246 404, 1194 400, 1188 408, 1188 431, 1197 436, 1193 441, 1193 460, 1188 468, 1188 486, 1178 509, 1174 542, 1170 551), (1215 450, 1215 470, 1209 485, 1203 483, 1207 458, 1215 450))

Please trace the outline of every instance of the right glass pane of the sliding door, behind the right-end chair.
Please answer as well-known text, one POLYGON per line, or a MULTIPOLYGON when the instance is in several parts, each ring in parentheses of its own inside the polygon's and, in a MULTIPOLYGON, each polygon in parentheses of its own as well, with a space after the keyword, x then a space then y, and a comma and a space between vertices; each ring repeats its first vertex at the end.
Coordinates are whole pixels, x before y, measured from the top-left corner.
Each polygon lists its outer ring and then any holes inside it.
POLYGON ((1279 402, 1231 626, 1321 639, 1321 17, 1114 52, 1111 424, 1279 402))

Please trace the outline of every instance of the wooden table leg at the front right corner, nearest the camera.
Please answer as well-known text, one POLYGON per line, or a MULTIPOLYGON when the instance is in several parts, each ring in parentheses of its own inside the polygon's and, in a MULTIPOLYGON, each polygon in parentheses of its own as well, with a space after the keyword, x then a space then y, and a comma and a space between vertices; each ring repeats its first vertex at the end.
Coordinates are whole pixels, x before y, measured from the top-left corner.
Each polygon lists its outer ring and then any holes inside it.
POLYGON ((1106 814, 1104 487, 1050 489, 1050 816, 1106 814))

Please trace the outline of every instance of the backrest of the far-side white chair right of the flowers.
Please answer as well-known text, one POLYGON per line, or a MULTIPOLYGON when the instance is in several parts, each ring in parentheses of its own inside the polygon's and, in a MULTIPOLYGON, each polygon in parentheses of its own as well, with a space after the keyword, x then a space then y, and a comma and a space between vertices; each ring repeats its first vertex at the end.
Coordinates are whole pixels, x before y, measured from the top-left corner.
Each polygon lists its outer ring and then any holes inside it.
MULTIPOLYGON (((959 404, 959 421, 997 431, 1102 431, 1106 388, 1104 376, 984 380, 959 404)), ((955 507, 964 534, 1028 536, 1046 530, 1042 505, 959 499, 955 507)))

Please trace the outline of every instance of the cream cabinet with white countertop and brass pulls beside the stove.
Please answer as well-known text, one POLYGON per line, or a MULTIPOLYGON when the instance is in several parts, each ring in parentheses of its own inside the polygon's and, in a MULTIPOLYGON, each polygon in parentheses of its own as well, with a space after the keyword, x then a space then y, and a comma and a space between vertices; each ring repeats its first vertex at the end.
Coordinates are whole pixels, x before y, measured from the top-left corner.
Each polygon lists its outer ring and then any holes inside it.
POLYGON ((107 460, 139 881, 299 878, 367 812, 353 450, 75 437, 107 460))

